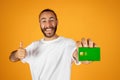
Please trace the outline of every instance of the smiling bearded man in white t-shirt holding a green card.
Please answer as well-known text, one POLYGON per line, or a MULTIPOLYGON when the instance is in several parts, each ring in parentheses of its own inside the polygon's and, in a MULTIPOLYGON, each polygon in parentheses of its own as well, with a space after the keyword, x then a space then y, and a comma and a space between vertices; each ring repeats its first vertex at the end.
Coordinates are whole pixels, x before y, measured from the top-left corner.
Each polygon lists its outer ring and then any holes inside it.
MULTIPOLYGON (((43 10, 39 22, 44 38, 35 41, 25 49, 20 48, 10 55, 10 60, 30 65, 33 80, 70 80, 71 63, 80 64, 77 47, 94 47, 91 40, 82 39, 76 43, 56 34, 58 19, 51 9, 43 10)), ((89 63, 89 62, 82 62, 89 63)))

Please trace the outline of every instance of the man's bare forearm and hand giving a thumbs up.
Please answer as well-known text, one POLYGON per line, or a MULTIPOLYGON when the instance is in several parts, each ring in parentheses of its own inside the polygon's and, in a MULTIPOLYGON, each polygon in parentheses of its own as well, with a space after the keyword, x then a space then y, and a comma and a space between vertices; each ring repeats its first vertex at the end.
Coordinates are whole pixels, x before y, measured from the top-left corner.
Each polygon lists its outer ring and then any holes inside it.
POLYGON ((11 52, 9 56, 9 60, 12 62, 17 62, 25 57, 26 57, 26 50, 23 48, 22 42, 20 42, 19 49, 11 52))

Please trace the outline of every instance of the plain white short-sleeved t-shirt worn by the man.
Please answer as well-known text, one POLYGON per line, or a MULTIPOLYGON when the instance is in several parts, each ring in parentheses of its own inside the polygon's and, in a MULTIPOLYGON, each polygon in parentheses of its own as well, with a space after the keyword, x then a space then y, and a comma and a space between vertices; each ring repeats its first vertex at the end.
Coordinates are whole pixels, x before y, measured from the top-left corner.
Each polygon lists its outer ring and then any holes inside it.
POLYGON ((35 41, 26 48, 22 62, 30 65, 32 80, 70 80, 73 40, 58 37, 51 41, 35 41))

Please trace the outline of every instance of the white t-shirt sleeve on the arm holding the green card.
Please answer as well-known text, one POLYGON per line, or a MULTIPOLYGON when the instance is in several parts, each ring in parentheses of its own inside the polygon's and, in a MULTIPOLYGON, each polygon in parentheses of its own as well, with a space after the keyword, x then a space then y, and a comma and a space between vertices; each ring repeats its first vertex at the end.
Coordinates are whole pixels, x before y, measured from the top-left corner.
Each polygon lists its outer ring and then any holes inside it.
POLYGON ((73 40, 70 39, 70 40, 68 41, 68 53, 69 53, 70 56, 71 56, 71 61, 74 61, 76 65, 80 65, 81 62, 78 61, 77 59, 75 59, 75 58, 73 57, 73 53, 75 52, 75 50, 77 50, 76 43, 75 43, 75 41, 73 41, 73 40))

